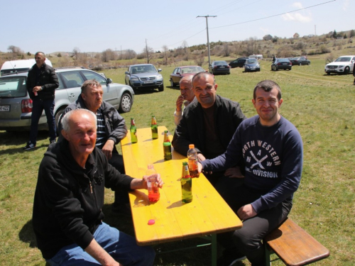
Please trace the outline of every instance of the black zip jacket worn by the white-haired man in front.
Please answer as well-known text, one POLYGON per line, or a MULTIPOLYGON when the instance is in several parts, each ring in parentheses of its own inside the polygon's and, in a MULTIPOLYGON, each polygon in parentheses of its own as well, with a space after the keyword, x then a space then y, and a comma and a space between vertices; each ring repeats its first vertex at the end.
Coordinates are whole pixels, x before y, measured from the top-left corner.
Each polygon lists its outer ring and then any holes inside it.
POLYGON ((65 139, 50 145, 40 163, 32 222, 46 260, 65 245, 87 248, 104 218, 105 187, 130 190, 132 178, 109 165, 98 148, 89 155, 85 168, 75 162, 65 139))

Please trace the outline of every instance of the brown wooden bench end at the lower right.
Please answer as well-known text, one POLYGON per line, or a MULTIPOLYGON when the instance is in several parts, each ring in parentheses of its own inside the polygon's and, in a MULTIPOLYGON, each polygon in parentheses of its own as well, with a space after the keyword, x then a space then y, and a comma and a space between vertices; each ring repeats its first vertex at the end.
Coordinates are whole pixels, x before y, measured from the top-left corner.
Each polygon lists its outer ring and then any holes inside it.
POLYGON ((329 250, 312 235, 287 218, 278 228, 264 238, 266 243, 266 265, 270 266, 270 255, 278 255, 285 265, 307 265, 329 256, 329 250))

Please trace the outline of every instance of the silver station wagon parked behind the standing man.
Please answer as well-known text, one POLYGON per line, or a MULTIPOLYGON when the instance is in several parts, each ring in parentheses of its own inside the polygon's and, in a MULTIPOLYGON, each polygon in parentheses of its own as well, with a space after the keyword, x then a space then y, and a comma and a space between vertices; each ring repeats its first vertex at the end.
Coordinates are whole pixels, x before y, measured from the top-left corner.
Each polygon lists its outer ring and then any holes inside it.
MULTIPOLYGON (((97 72, 83 68, 58 68, 59 87, 55 89, 55 123, 60 115, 81 93, 81 85, 87 79, 96 79, 102 84, 104 100, 121 113, 131 111, 133 89, 124 84, 112 83, 97 72)), ((0 131, 29 131, 31 126, 32 100, 26 89, 28 72, 18 72, 0 77, 0 131)), ((38 122, 39 130, 48 130, 47 118, 43 111, 38 122)))

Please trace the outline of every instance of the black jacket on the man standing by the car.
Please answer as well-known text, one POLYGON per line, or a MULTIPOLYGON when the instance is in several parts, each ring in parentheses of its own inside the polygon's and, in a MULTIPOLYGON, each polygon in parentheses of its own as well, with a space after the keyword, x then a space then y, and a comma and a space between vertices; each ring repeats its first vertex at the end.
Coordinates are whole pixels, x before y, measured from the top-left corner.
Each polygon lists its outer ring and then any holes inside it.
POLYGON ((49 65, 43 65, 40 67, 40 77, 36 82, 35 76, 38 71, 37 65, 33 65, 31 70, 28 70, 27 76, 27 91, 30 94, 31 99, 40 99, 40 100, 53 100, 55 89, 59 87, 58 77, 55 74, 53 67, 49 65), (35 96, 32 90, 34 87, 40 86, 42 90, 38 92, 38 95, 35 96))

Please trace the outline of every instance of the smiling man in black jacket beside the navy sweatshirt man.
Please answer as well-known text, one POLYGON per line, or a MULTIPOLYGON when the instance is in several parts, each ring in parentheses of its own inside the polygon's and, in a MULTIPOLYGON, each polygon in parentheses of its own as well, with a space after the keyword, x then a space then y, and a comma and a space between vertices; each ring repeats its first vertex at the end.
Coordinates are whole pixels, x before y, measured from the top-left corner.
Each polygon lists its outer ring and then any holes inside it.
MULTIPOLYGON (((246 116, 237 102, 216 94, 217 84, 208 72, 195 74, 192 89, 196 99, 189 104, 175 128, 172 145, 178 153, 187 155, 189 144, 195 144, 198 159, 212 159, 226 151, 236 128, 246 116)), ((219 177, 240 176, 239 167, 226 172, 204 173, 214 186, 219 177)))

